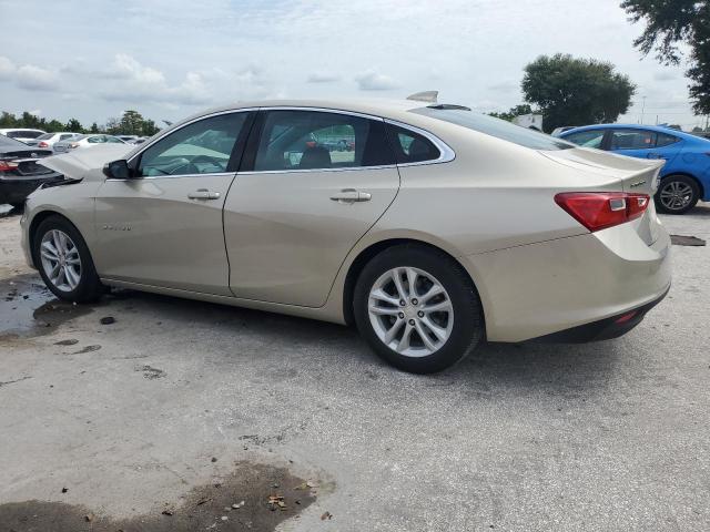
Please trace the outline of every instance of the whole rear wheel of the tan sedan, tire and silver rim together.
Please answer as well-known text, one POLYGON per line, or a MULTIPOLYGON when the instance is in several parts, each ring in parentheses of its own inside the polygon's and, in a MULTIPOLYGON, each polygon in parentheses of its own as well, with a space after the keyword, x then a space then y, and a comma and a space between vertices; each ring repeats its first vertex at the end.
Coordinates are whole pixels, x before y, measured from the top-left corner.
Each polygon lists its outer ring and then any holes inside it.
POLYGON ((373 350, 413 374, 433 374, 455 365, 484 337, 480 298, 464 268, 448 255, 419 245, 393 246, 371 259, 355 285, 353 307, 357 328, 373 350), (444 293, 432 296, 436 286, 444 293), (404 307, 403 298, 397 301, 403 291, 408 298, 404 307), (427 310, 435 306, 446 310, 427 310), (408 341, 404 340, 407 331, 408 341))

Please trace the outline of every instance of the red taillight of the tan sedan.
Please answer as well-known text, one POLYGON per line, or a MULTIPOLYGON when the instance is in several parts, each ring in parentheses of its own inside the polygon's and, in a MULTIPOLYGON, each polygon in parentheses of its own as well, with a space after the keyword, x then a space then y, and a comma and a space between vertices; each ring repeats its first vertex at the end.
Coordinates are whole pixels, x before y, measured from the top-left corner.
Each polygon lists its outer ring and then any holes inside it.
POLYGON ((630 222, 648 208, 647 194, 626 192, 562 192, 555 202, 592 233, 630 222))

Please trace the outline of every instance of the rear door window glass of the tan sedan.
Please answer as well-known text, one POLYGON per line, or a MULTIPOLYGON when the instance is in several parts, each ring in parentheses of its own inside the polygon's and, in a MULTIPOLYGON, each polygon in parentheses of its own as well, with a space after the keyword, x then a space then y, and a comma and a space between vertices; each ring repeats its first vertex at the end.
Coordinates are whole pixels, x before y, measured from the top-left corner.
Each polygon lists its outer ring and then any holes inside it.
POLYGON ((318 111, 270 111, 254 171, 353 168, 394 164, 384 122, 318 111))

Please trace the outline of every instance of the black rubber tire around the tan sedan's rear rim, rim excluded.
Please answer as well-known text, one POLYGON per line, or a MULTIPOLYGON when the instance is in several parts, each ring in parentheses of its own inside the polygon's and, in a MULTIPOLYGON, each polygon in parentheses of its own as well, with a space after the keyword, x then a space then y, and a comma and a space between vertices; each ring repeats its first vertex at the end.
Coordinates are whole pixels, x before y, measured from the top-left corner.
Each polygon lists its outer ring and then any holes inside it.
POLYGON ((480 298, 464 268, 447 255, 416 246, 399 245, 374 257, 363 268, 354 294, 354 316, 361 335, 390 365, 414 374, 442 371, 462 360, 484 336, 480 298), (377 278, 395 267, 413 266, 436 277, 454 307, 454 327, 447 342, 426 357, 407 357, 392 350, 377 337, 367 310, 369 290, 377 278))

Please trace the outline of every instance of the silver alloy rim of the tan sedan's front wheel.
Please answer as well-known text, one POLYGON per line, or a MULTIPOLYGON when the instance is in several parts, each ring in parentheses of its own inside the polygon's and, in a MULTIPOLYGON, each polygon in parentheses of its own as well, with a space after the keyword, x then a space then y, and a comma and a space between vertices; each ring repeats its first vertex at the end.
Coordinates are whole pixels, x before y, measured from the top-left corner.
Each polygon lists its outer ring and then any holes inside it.
POLYGON ((42 269, 47 278, 61 291, 72 291, 81 280, 79 248, 67 233, 48 231, 40 244, 42 269))

